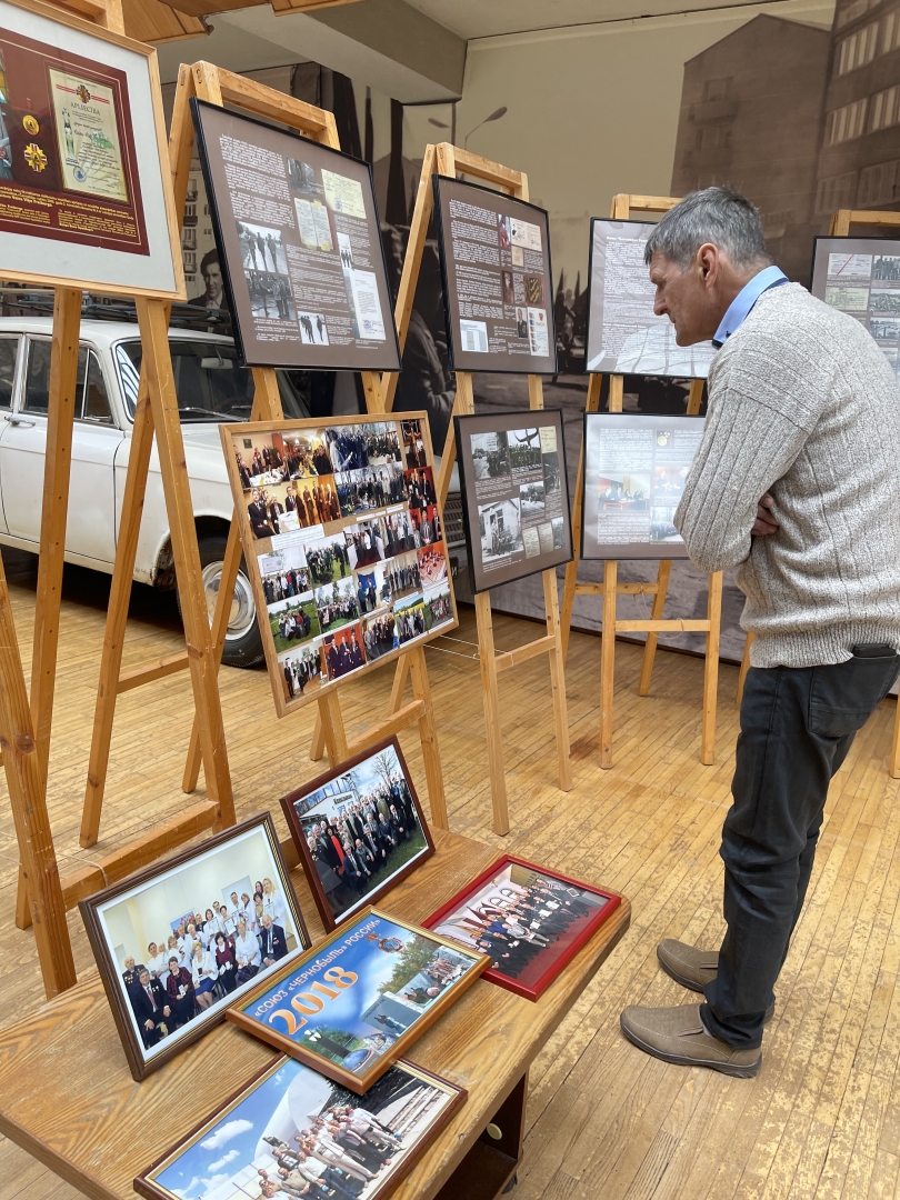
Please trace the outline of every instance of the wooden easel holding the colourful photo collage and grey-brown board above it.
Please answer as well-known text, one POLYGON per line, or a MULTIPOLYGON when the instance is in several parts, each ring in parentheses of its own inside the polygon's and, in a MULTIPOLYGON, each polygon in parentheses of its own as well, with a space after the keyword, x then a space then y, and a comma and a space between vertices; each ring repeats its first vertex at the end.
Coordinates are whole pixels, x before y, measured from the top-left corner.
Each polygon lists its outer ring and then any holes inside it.
MULTIPOLYGON (((283 92, 275 91, 272 88, 266 88, 252 79, 233 74, 230 71, 224 71, 210 62, 194 62, 191 67, 182 66, 179 72, 175 104, 172 115, 170 154, 173 170, 180 185, 180 188, 176 186, 176 196, 184 196, 193 148, 193 124, 188 109, 188 101, 192 96, 221 107, 228 103, 258 116, 276 120, 282 125, 288 125, 298 130, 305 137, 312 138, 323 145, 331 146, 335 150, 341 149, 332 113, 316 108, 312 104, 306 104, 292 96, 286 96, 283 92)), ((256 392, 251 420, 281 420, 283 413, 275 371, 266 367, 253 367, 253 380, 256 392)), ((362 386, 368 412, 384 412, 380 376, 377 372, 362 372, 362 386)), ((224 560, 222 563, 216 610, 212 618, 212 646, 216 665, 220 664, 224 648, 228 613, 234 586, 238 580, 240 559, 241 544, 238 523, 232 520, 224 560)), ((320 737, 324 749, 328 750, 329 762, 331 766, 336 766, 344 758, 359 754, 367 745, 372 745, 374 742, 391 733, 398 733, 410 725, 418 725, 422 745, 425 776, 428 785, 428 798, 431 800, 431 818, 434 824, 445 829, 448 828, 446 799, 444 796, 444 780, 434 726, 434 708, 424 648, 421 646, 415 647, 404 654, 403 659, 409 662, 413 673, 413 700, 410 703, 391 708, 384 720, 376 722, 365 733, 348 743, 338 697, 334 691, 330 691, 318 701, 317 736, 320 737)), ((110 670, 118 673, 118 660, 115 664, 110 664, 110 670)), ((178 667, 174 667, 174 670, 178 670, 178 667)), ((97 700, 98 714, 102 698, 98 697, 97 700)), ((107 726, 104 728, 108 731, 112 730, 113 704, 114 697, 110 697, 106 702, 104 708, 107 713, 107 726)), ((97 751, 98 755, 102 754, 108 758, 109 732, 106 732, 104 738, 97 745, 97 751)), ((194 718, 191 745, 187 752, 181 785, 185 792, 192 792, 197 787, 203 762, 200 730, 198 720, 194 718)), ((90 799, 90 791, 91 784, 89 781, 89 794, 85 798, 85 818, 89 811, 88 802, 90 799)), ((98 821, 98 817, 100 808, 97 804, 96 821, 98 821)))

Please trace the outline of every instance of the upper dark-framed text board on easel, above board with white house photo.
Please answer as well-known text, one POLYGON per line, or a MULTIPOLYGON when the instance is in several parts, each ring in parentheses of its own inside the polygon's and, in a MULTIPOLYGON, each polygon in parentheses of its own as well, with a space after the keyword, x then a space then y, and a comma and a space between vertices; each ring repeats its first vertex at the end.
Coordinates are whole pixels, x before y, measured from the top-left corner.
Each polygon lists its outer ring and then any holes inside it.
MULTIPOLYGON (((448 358, 450 361, 451 371, 479 371, 486 373, 499 373, 499 374, 541 374, 552 376, 557 373, 557 335, 556 335, 556 313, 553 306, 553 263, 550 253, 550 215, 546 209, 541 209, 536 204, 530 204, 528 200, 521 200, 516 196, 509 196, 506 192, 497 192, 492 187, 485 187, 482 184, 472 184, 468 180, 463 181, 456 179, 456 176, 450 175, 432 175, 431 176, 432 190, 434 193, 434 228, 438 239, 438 256, 440 258, 440 283, 444 294, 444 322, 446 325, 446 349, 448 358), (449 228, 448 222, 444 220, 443 212, 443 191, 456 191, 458 194, 468 197, 469 203, 475 206, 486 205, 493 209, 496 216, 498 217, 498 226, 500 218, 505 217, 506 227, 509 222, 516 220, 516 215, 520 215, 520 220, 528 218, 527 224, 538 226, 541 233, 541 254, 544 258, 544 266, 536 268, 532 266, 529 269, 528 262, 522 254, 522 263, 517 263, 510 258, 506 263, 503 258, 504 252, 512 254, 511 247, 504 246, 503 242, 498 241, 498 265, 497 272, 500 280, 500 288, 503 290, 503 275, 504 269, 506 274, 511 274, 514 270, 522 272, 523 288, 526 287, 526 278, 540 280, 540 292, 541 301, 540 304, 532 302, 532 299, 527 295, 527 290, 523 292, 524 299, 515 301, 508 305, 504 299, 502 299, 502 307, 504 308, 504 317, 502 318, 502 324, 518 324, 518 313, 523 313, 523 320, 526 323, 526 334, 520 335, 522 340, 526 340, 529 344, 529 353, 524 354, 517 352, 516 354, 510 354, 505 350, 466 350, 460 344, 460 304, 457 290, 455 287, 456 269, 454 266, 452 258, 452 233, 449 228), (526 272, 528 275, 526 276, 526 272), (514 314, 511 317, 505 316, 505 308, 511 307, 514 314), (548 353, 536 354, 530 350, 530 334, 528 330, 529 323, 529 310, 544 310, 546 313, 546 336, 548 340, 548 353)), ((496 227, 497 228, 497 227, 496 227)), ((521 248, 521 247, 520 247, 521 248)), ((484 264, 481 264, 484 265, 484 264)), ((488 266, 484 265, 487 271, 488 266)), ((466 318, 469 319, 469 318, 466 318)), ((497 318, 491 318, 496 320, 497 318)), ((482 320, 481 324, 485 324, 482 320)), ((486 338, 490 336, 490 329, 486 326, 485 331, 486 338)))

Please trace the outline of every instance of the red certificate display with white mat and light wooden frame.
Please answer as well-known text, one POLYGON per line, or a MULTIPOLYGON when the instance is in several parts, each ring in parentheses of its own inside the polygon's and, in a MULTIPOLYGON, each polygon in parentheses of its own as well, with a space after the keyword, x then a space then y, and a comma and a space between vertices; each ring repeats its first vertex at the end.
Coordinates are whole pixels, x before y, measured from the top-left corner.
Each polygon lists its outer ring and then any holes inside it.
MULTIPOLYGON (((17 228, 0 229, 4 270, 10 277, 24 283, 82 288, 128 298, 139 295, 184 300, 186 292, 180 223, 175 210, 155 47, 84 20, 42 0, 0 0, 0 40, 2 38, 10 41, 7 50, 14 47, 22 55, 46 60, 44 71, 48 72, 47 82, 41 84, 48 89, 46 110, 42 100, 41 110, 37 112, 37 97, 31 90, 32 79, 41 74, 36 67, 32 67, 32 76, 24 82, 24 88, 19 86, 19 92, 30 90, 31 96, 23 95, 19 100, 13 97, 13 107, 22 101, 35 106, 35 112, 26 110, 22 118, 28 138, 32 140, 22 149, 20 155, 18 151, 13 154, 13 181, 34 182, 48 172, 53 173, 54 179, 59 175, 56 187, 44 186, 42 191, 48 198, 56 198, 52 211, 55 214, 59 206, 61 214, 59 226, 50 224, 48 228, 43 220, 35 222, 35 234, 28 232, 22 217, 5 218, 7 223, 17 223, 17 228), (58 36, 56 29, 60 30, 58 36), (54 82, 53 72, 58 77, 72 76, 72 79, 65 80, 64 88, 61 78, 54 82), (80 80, 78 86, 74 85, 76 79, 80 80), (102 103, 94 102, 94 84, 98 88, 102 103), (72 91, 76 115, 65 131, 65 140, 64 131, 59 128, 59 113, 54 112, 54 104, 60 102, 52 89, 72 91), (121 196, 127 197, 125 200, 115 196, 106 198, 90 190, 89 168, 78 161, 79 104, 85 113, 92 114, 91 119, 98 128, 97 136, 104 139, 101 144, 108 145, 110 155, 118 150, 121 196), (114 121, 110 128, 114 131, 113 137, 119 138, 118 146, 103 133, 103 104, 107 108, 112 106, 114 121), (97 113, 101 115, 96 115, 97 113), (26 163, 31 166, 34 179, 24 180, 20 174, 16 175, 16 170, 25 170, 26 163), (72 176, 68 180, 66 172, 72 176), (103 209, 106 216, 98 208, 103 209), (91 229, 85 228, 85 222, 92 223, 91 229), (40 233, 41 229, 56 233, 56 236, 40 233), (127 245, 130 234, 133 234, 131 248, 127 245), (116 246, 116 241, 122 245, 116 246), (139 248, 136 250, 136 246, 139 248), (53 270, 36 270, 35 258, 50 262, 53 270), (142 277, 145 282, 140 282, 142 277), (150 282, 146 282, 148 277, 150 282)), ((16 71, 11 70, 10 62, 6 62, 6 71, 7 86, 12 91, 17 84, 16 71)), ((68 120, 67 109, 64 116, 68 120)), ((84 140, 89 140, 86 126, 84 140)), ((50 209, 44 216, 49 212, 50 209)))

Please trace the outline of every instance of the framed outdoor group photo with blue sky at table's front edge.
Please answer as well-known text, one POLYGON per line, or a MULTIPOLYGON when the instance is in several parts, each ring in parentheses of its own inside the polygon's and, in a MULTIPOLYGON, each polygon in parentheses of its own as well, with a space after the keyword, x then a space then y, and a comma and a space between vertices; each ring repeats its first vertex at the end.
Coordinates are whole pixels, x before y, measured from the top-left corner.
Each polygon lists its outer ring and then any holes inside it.
POLYGON ((464 1102, 464 1088, 412 1062, 359 1097, 281 1057, 139 1175, 134 1190, 184 1200, 203 1180, 216 1200, 385 1200, 464 1102))

